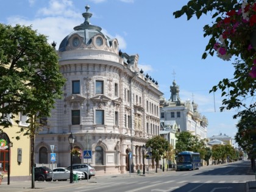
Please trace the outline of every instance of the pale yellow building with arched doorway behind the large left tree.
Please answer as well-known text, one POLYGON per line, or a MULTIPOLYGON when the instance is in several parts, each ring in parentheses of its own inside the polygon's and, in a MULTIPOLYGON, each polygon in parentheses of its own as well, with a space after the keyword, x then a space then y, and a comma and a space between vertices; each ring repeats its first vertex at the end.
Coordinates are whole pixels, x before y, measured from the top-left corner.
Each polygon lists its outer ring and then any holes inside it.
POLYGON ((12 127, 2 129, 0 132, 0 169, 4 174, 2 182, 8 181, 8 170, 10 170, 10 182, 17 180, 31 180, 30 174, 30 139, 29 136, 23 136, 21 127, 26 127, 26 116, 19 116, 12 119, 12 127), (20 123, 15 120, 20 118, 20 123), (20 140, 16 140, 19 136, 20 140), (10 151, 10 156, 9 156, 10 151), (10 161, 9 161, 10 159, 10 161), (10 162, 10 167, 9 167, 10 162))

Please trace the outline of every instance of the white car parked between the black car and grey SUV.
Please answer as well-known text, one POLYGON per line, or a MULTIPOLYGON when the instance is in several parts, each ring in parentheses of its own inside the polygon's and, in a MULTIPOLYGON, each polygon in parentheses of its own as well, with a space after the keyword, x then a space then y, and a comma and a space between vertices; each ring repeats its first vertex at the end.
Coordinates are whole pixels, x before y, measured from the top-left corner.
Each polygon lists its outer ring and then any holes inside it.
MULTIPOLYGON (((70 171, 66 168, 54 168, 53 170, 53 180, 68 180, 70 176, 70 171)), ((85 179, 85 173, 82 171, 73 171, 73 174, 77 174, 78 179, 85 179)))

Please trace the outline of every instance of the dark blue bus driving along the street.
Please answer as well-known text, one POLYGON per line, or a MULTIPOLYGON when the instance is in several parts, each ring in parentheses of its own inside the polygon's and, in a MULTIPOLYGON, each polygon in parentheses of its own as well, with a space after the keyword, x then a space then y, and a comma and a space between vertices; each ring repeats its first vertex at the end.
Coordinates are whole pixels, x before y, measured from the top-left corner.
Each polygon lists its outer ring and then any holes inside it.
POLYGON ((199 152, 183 151, 176 156, 176 171, 194 170, 201 167, 201 158, 199 152))

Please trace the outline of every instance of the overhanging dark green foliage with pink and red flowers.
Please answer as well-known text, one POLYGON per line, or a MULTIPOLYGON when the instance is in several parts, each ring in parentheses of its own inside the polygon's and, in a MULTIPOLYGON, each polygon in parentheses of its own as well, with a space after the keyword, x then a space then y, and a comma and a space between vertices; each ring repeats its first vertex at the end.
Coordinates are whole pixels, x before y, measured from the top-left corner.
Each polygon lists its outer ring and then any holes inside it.
MULTIPOLYGON (((204 26, 204 37, 209 36, 210 39, 202 59, 206 59, 209 54, 213 56, 215 52, 223 60, 235 57, 233 78, 222 79, 210 92, 218 89, 222 91, 221 112, 225 109, 241 108, 233 118, 239 117, 243 121, 243 118, 251 116, 250 124, 254 124, 253 119, 256 113, 256 2, 255 0, 191 0, 173 15, 179 18, 186 14, 187 19, 190 20, 194 15, 199 19, 207 13, 210 13, 213 21, 211 25, 204 26)), ((250 129, 249 127, 244 127, 244 129, 250 129)), ((249 145, 246 144, 246 142, 249 143, 247 138, 238 138, 238 136, 242 135, 237 135, 236 139, 240 140, 243 146, 249 145)))

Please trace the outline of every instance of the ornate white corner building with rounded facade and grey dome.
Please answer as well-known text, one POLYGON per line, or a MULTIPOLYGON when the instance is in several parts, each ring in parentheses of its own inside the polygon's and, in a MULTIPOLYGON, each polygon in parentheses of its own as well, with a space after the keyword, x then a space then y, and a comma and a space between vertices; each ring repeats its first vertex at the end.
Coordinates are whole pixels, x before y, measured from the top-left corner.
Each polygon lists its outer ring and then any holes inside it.
MULTIPOLYGON (((92 151, 89 163, 96 174, 142 169, 141 146, 159 134, 159 98, 155 80, 138 69, 138 55, 118 51, 118 40, 90 24, 90 7, 84 23, 74 27, 59 47, 60 71, 66 78, 63 99, 35 140, 35 162, 51 163, 54 145, 58 166, 70 165, 68 136, 74 148, 92 151), (129 158, 132 152, 132 158, 129 158)), ((74 156, 74 163, 87 163, 74 156)), ((145 161, 148 162, 148 161, 145 161)))

